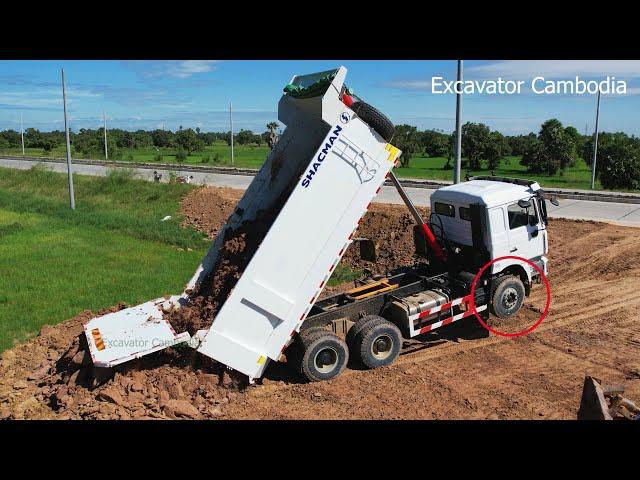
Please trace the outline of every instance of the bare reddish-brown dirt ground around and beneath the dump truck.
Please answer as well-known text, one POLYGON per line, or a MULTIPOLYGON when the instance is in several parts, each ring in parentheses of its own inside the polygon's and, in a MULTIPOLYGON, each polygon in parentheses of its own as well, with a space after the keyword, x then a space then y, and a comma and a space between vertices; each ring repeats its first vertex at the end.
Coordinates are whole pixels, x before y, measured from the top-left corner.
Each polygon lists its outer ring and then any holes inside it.
MULTIPOLYGON (((240 194, 196 191, 185 201, 188 221, 215 235, 240 194)), ((410 260, 410 225, 403 208, 373 205, 360 234, 377 240, 383 260, 369 269, 410 260)), ((410 353, 391 367, 307 384, 273 364, 263 385, 244 390, 229 389, 232 379, 199 355, 170 351, 89 390, 54 371, 91 317, 84 312, 3 354, 0 418, 573 419, 587 374, 640 400, 640 231, 553 220, 549 238, 550 313, 524 337, 487 336, 470 320, 408 342, 410 353)), ((353 252, 344 261, 357 262, 353 252)), ((543 303, 538 288, 504 329, 530 325, 543 303)))

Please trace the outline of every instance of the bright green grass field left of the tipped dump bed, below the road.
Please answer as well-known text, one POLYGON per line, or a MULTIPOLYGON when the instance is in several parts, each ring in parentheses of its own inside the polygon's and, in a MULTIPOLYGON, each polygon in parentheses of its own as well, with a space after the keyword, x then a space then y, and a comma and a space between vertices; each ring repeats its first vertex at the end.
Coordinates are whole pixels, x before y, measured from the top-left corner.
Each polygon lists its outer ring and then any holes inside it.
POLYGON ((74 182, 71 211, 65 175, 0 168, 0 351, 85 309, 181 292, 209 245, 180 226, 192 186, 74 182))

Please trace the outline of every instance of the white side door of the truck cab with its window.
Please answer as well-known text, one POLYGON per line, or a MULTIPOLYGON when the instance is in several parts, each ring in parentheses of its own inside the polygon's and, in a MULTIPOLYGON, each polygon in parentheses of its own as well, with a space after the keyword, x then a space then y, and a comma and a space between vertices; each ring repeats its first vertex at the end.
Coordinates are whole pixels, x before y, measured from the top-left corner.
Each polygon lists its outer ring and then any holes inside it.
POLYGON ((532 259, 544 254, 544 232, 534 197, 507 205, 507 221, 509 255, 532 259))

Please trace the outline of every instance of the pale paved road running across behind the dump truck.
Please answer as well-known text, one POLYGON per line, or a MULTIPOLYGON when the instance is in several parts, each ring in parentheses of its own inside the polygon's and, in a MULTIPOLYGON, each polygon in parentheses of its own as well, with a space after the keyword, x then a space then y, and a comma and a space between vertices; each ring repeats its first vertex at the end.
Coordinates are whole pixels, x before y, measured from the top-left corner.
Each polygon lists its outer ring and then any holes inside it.
MULTIPOLYGON (((8 168, 29 169, 35 163, 32 160, 13 160, 0 158, 0 166, 8 168)), ((43 163, 45 168, 56 172, 66 172, 65 163, 43 163)), ((105 176, 108 168, 100 165, 73 166, 74 172, 82 175, 105 176)), ((153 180, 153 170, 138 168, 133 169, 137 178, 153 180)), ((161 181, 168 181, 168 170, 157 170, 162 174, 161 181)), ((217 187, 246 189, 253 177, 249 175, 227 175, 221 173, 184 172, 185 176, 193 176, 192 183, 199 185, 214 185, 217 187)), ((407 188, 409 197, 416 205, 429 205, 429 197, 435 190, 428 188, 407 188)), ((384 186, 375 199, 379 203, 401 204, 402 199, 392 186, 384 186)), ((590 200, 559 199, 560 205, 554 206, 548 203, 547 209, 550 217, 573 218, 583 220, 598 220, 612 222, 621 225, 640 227, 640 205, 633 203, 597 202, 590 200)))

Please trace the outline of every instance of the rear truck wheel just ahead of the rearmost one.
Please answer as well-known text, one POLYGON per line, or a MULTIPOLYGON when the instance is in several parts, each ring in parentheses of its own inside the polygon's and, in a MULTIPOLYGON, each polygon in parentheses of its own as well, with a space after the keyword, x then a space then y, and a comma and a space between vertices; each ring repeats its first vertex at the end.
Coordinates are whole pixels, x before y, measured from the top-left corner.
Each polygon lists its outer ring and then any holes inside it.
POLYGON ((381 317, 371 318, 357 333, 350 345, 354 360, 367 368, 391 365, 402 350, 400 329, 381 317))

